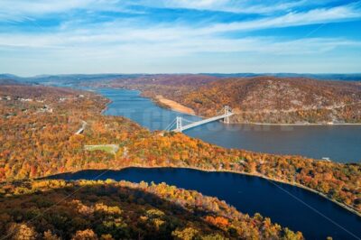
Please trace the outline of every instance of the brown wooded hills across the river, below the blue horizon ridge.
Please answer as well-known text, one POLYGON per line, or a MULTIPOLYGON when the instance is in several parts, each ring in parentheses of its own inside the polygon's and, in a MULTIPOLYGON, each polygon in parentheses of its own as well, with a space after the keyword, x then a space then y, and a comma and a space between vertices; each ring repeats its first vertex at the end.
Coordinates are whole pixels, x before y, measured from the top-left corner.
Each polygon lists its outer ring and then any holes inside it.
POLYGON ((361 82, 196 76, 118 79, 93 85, 136 88, 145 97, 155 101, 157 96, 166 97, 203 116, 231 106, 236 113, 233 123, 361 123, 361 82))

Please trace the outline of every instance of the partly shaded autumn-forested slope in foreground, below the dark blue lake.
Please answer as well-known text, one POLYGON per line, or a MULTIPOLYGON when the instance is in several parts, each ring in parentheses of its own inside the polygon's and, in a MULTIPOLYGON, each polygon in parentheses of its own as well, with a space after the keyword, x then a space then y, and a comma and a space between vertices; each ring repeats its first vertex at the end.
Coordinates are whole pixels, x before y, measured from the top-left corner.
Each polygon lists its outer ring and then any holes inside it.
POLYGON ((0 235, 13 239, 303 239, 267 217, 164 183, 3 184, 0 219, 0 235))

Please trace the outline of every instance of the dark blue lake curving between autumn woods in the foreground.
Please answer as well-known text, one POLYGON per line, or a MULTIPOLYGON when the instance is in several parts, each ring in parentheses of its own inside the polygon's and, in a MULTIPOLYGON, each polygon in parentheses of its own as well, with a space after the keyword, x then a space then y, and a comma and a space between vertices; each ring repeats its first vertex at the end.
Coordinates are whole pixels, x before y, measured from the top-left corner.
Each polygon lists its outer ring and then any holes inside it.
POLYGON ((304 189, 236 173, 129 168, 122 171, 79 171, 51 178, 164 181, 226 200, 243 213, 254 215, 258 212, 271 217, 273 222, 301 231, 308 239, 325 239, 329 235, 334 239, 361 237, 361 217, 331 201, 304 189))

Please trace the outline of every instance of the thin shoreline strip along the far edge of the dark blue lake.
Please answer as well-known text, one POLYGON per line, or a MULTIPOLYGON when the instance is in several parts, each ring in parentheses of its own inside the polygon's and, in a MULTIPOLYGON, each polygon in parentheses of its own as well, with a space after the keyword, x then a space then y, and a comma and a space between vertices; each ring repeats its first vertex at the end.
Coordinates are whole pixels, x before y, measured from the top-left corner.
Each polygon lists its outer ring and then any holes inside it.
MULTIPOLYGON (((244 175, 244 176, 249 176, 249 177, 254 177, 254 178, 260 178, 260 179, 264 179, 264 180, 269 180, 269 181, 273 181, 273 182, 278 182, 278 183, 282 183, 282 184, 287 184, 289 186, 295 187, 295 188, 300 188, 300 189, 305 189, 308 190, 314 194, 319 195, 322 198, 326 198, 329 201, 337 204, 339 207, 346 209, 347 211, 355 214, 357 217, 361 217, 361 212, 357 211, 356 208, 353 208, 352 206, 348 206, 347 204, 338 202, 335 199, 329 198, 326 194, 319 192, 318 190, 315 189, 310 189, 309 187, 306 187, 304 185, 301 185, 300 183, 297 182, 288 182, 288 181, 284 181, 284 180, 277 180, 277 179, 273 179, 273 178, 269 178, 267 176, 261 175, 261 174, 254 174, 254 173, 248 173, 248 172, 241 172, 241 171, 232 171, 232 170, 208 170, 208 169, 202 169, 202 168, 198 168, 198 167, 191 167, 191 166, 182 166, 182 167, 175 167, 175 166, 168 166, 168 167, 164 167, 164 166, 140 166, 140 165, 129 165, 129 166, 125 166, 125 167, 121 167, 118 169, 87 169, 87 170, 80 170, 80 171, 122 171, 122 170, 126 170, 126 169, 130 169, 130 168, 138 168, 138 169, 186 169, 186 170, 195 170, 195 171, 204 171, 204 172, 228 172, 228 173, 234 173, 234 174, 240 174, 240 175, 244 175)), ((35 180, 48 180, 48 177, 51 176, 56 176, 56 175, 60 175, 60 174, 73 174, 79 171, 68 171, 68 172, 63 172, 63 173, 58 173, 55 175, 49 175, 49 176, 45 176, 42 178, 38 178, 35 180)), ((56 180, 56 179, 51 179, 51 180, 56 180)), ((217 196, 213 196, 216 197, 217 196)))

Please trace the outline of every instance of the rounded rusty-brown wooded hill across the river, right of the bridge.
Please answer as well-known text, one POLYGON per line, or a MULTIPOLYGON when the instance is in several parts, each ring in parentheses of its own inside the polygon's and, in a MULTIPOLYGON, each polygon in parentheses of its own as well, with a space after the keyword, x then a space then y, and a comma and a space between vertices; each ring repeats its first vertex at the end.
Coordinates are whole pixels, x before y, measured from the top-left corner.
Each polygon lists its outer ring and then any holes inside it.
POLYGON ((219 80, 178 99, 201 115, 231 106, 240 123, 360 123, 361 83, 307 78, 219 80))

